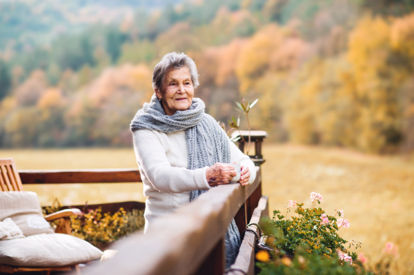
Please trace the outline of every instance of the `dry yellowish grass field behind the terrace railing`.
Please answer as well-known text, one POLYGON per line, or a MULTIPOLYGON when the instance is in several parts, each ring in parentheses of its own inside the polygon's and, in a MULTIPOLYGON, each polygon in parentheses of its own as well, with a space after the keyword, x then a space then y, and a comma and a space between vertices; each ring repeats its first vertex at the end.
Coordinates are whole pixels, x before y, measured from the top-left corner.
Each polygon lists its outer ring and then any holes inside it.
MULTIPOLYGON (((351 227, 339 233, 362 242, 371 261, 384 244, 399 246, 398 274, 414 274, 414 165, 400 157, 367 156, 344 150, 292 145, 266 145, 262 166, 264 194, 270 210, 281 210, 288 200, 310 203, 309 193, 324 196, 321 207, 344 210, 351 227)), ((0 150, 12 156, 19 169, 75 169, 137 167, 132 149, 0 150)), ((25 185, 37 192, 42 205, 52 198, 68 204, 144 201, 135 183, 100 185, 25 185)))

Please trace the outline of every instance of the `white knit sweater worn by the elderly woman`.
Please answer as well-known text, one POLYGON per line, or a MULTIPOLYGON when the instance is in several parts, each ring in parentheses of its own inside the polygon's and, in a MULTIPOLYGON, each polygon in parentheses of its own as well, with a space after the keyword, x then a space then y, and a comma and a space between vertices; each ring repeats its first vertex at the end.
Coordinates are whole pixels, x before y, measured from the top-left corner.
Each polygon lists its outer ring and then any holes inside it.
MULTIPOLYGON (((177 207, 190 201, 190 191, 208 190, 208 167, 188 170, 188 150, 185 131, 166 134, 155 130, 133 132, 134 150, 139 172, 144 183, 146 208, 145 229, 159 216, 174 212, 177 207)), ((230 144, 230 163, 241 163, 250 170, 249 183, 253 183, 256 170, 253 161, 236 145, 230 144)))

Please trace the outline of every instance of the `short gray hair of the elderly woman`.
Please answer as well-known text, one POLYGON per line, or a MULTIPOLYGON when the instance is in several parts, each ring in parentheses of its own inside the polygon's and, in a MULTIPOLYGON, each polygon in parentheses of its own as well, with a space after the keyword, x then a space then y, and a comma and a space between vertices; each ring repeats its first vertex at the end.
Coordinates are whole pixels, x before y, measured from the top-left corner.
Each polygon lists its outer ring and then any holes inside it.
POLYGON ((197 66, 193 59, 190 59, 184 52, 170 52, 162 57, 161 61, 155 65, 154 72, 152 72, 152 88, 162 91, 166 74, 170 70, 177 70, 183 67, 187 67, 190 70, 191 81, 193 81, 194 88, 197 88, 199 85, 197 66))

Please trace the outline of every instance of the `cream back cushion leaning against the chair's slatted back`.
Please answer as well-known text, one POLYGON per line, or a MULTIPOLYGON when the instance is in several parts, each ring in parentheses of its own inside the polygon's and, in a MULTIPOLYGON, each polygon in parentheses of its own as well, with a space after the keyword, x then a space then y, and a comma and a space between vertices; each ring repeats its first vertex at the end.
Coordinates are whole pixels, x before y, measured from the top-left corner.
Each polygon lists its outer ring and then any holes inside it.
POLYGON ((24 236, 55 233, 43 218, 39 199, 34 192, 0 192, 0 221, 5 218, 12 218, 24 236))

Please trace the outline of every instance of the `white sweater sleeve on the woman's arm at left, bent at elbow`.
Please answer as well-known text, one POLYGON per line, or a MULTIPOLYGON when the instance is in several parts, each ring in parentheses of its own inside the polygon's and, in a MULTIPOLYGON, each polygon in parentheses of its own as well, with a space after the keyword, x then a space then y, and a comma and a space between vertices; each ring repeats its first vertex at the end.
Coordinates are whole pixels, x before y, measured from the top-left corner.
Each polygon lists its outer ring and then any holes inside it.
POLYGON ((157 190, 182 193, 210 189, 206 179, 208 167, 196 170, 172 167, 159 137, 150 130, 137 130, 133 133, 133 138, 138 165, 157 190))

